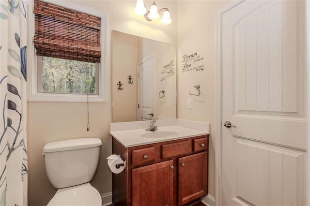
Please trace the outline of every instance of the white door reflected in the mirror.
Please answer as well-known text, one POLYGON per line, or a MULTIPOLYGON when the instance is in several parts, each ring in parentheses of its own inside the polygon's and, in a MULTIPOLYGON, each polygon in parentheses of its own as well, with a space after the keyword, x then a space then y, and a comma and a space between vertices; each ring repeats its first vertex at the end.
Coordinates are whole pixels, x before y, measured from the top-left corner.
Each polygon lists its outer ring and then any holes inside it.
POLYGON ((138 82, 138 121, 155 118, 155 56, 142 60, 138 82))

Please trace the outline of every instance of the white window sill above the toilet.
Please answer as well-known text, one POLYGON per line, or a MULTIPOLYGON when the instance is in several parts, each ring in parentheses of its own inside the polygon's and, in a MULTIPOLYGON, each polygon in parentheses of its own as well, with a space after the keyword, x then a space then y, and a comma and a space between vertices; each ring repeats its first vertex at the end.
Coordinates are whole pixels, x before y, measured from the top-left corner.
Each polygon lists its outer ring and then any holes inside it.
MULTIPOLYGON (((28 102, 87 102, 86 94, 36 93, 29 95, 28 102)), ((89 95, 89 102, 107 102, 100 95, 89 95)))

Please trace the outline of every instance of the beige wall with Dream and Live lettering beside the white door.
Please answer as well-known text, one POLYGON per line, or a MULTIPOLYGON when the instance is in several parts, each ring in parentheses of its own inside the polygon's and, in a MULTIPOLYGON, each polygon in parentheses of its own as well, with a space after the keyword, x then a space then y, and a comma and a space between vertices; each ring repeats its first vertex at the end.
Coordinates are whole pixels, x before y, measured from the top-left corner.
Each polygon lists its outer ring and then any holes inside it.
MULTIPOLYGON (((228 1, 178 1, 177 3, 177 72, 178 118, 210 123, 209 142, 209 191, 215 197, 215 79, 216 79, 216 11, 228 1), (195 56, 195 53, 197 55, 195 56), (194 54, 193 59, 183 62, 183 56, 194 54), (194 62, 194 59, 203 58, 194 62), (182 65, 191 64, 189 71, 182 72, 182 65), (203 65, 203 71, 190 70, 203 65), (200 96, 196 84, 201 86, 200 96), (192 99, 192 109, 187 109, 187 99, 192 99)), ((187 70, 186 69, 186 70, 187 70)))

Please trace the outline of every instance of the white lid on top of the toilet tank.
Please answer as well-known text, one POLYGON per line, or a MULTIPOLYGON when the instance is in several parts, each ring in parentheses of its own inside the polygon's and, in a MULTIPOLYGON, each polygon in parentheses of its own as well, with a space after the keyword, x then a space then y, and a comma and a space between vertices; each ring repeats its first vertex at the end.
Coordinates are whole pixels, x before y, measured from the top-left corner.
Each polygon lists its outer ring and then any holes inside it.
POLYGON ((43 152, 59 152, 75 149, 85 149, 90 147, 100 146, 101 140, 99 138, 79 138, 79 139, 67 139, 56 142, 47 143, 43 147, 43 152))

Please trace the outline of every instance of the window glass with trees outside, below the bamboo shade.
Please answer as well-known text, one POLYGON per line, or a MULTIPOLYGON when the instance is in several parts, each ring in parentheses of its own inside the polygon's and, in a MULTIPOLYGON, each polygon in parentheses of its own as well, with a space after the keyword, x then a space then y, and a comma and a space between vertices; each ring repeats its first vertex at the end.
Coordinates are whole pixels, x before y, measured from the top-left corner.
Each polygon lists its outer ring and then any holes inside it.
POLYGON ((99 63, 38 56, 37 67, 37 92, 99 93, 99 63))

